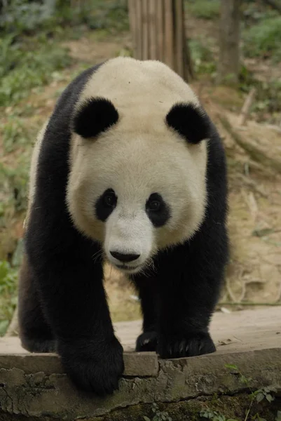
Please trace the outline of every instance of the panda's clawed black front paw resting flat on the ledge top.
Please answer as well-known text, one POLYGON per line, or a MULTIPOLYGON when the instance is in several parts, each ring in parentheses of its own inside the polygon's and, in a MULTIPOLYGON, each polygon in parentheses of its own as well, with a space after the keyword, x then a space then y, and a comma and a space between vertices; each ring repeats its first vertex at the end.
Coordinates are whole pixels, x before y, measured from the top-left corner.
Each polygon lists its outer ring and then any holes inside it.
POLYGON ((161 335, 157 347, 157 353, 163 359, 211 354, 215 351, 216 347, 210 334, 205 332, 192 332, 177 336, 161 335))

